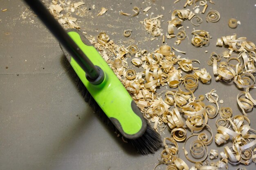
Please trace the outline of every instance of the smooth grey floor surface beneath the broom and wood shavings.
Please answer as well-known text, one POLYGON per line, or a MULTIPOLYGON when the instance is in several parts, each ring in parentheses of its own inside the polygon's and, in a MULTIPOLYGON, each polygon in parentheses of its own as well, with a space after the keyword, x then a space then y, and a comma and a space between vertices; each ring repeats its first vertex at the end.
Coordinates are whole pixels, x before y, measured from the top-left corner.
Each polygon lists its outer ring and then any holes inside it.
MULTIPOLYGON (((154 13, 153 16, 164 15, 162 28, 165 33, 166 21, 171 20, 168 12, 170 9, 183 9, 185 2, 83 1, 88 8, 95 4, 95 9, 91 9, 87 16, 78 17, 81 30, 87 32, 87 35, 97 36, 105 31, 116 44, 129 46, 138 43, 139 48, 148 51, 161 45, 162 39, 144 42, 145 37, 150 39, 151 35, 139 23, 147 17, 142 9, 152 6, 150 12, 154 13), (119 15, 119 11, 130 12, 134 6, 141 9, 137 17, 119 15), (101 17, 96 17, 101 7, 109 10, 101 17), (165 10, 161 7, 165 7, 165 10), (123 31, 130 28, 133 29, 132 36, 124 37, 123 31)), ((221 36, 237 33, 238 37, 247 37, 249 41, 256 42, 256 1, 214 1, 216 4, 209 4, 209 9, 220 12, 219 22, 207 23, 205 15, 202 15, 203 23, 196 28, 189 21, 184 22, 185 28, 189 26, 186 30, 190 39, 189 33, 193 28, 208 31, 213 37, 209 46, 195 48, 188 45, 185 39, 178 49, 187 52, 186 55, 182 54, 184 57, 199 59, 200 67, 207 68, 212 75, 211 84, 200 83, 195 94, 198 96, 216 88, 220 99, 224 100, 223 106, 231 107, 234 115, 237 115, 241 113, 236 104, 239 90, 233 83, 227 85, 216 82, 207 61, 211 52, 221 53, 226 50, 215 46, 216 39, 221 36), (241 21, 236 29, 227 25, 231 17, 241 21), (204 53, 205 50, 208 53, 204 53)), ((112 131, 106 129, 76 89, 74 72, 56 39, 37 17, 27 15, 23 19, 22 13, 25 15, 29 11, 21 0, 0 0, 0 169, 152 170, 158 163, 162 149, 155 155, 137 155, 129 144, 123 143, 112 131), (2 12, 2 9, 8 10, 2 12), (31 20, 34 23, 29 22, 31 20)), ((173 46, 174 41, 167 40, 167 45, 173 46)), ((249 118, 252 121, 251 127, 256 129, 255 108, 249 113, 249 118)), ((216 133, 214 123, 215 119, 209 120, 213 133, 216 133)), ((162 133, 162 137, 169 136, 169 132, 162 133)), ((179 143, 180 157, 184 159, 182 146, 183 143, 179 143)), ((215 142, 209 146, 209 150, 212 148, 216 148, 215 142)), ((218 149, 222 151, 223 147, 218 149)), ((235 170, 243 166, 229 167, 235 170)), ((255 163, 246 168, 256 169, 255 163)))

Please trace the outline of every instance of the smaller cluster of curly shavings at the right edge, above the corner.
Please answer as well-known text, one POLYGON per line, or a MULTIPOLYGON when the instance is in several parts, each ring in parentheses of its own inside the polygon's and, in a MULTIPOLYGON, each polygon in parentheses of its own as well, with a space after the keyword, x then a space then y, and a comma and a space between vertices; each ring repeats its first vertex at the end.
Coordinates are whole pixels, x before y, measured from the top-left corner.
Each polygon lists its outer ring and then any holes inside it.
POLYGON ((246 89, 238 94, 237 102, 243 114, 247 116, 245 112, 251 111, 256 105, 256 100, 249 93, 256 88, 253 75, 256 73, 256 46, 253 42, 247 41, 246 37, 237 38, 236 34, 218 38, 216 45, 223 44, 229 46, 229 52, 225 51, 222 55, 211 53, 213 74, 217 76, 216 81, 228 83, 233 80, 239 89, 246 89), (222 57, 227 61, 221 61, 222 57))

